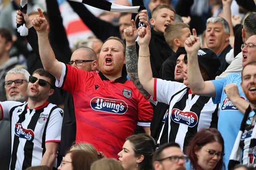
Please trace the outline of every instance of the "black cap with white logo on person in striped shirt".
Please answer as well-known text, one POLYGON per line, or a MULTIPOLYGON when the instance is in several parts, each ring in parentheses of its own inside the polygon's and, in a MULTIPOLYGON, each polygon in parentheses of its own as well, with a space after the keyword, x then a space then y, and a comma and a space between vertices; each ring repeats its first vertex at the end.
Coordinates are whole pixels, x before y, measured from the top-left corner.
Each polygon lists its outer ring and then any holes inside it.
MULTIPOLYGON (((206 70, 211 80, 215 79, 215 74, 220 68, 220 59, 210 49, 200 48, 197 52, 198 64, 206 70)), ((184 60, 187 60, 187 55, 184 56, 184 60)))

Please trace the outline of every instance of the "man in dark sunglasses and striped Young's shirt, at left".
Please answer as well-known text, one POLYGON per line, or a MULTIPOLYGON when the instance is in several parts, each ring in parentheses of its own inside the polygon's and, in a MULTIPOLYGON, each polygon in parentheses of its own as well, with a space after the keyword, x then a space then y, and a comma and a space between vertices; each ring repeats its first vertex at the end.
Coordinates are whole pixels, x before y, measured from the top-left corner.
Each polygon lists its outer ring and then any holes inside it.
POLYGON ((8 80, 10 85, 27 85, 28 102, 0 102, 0 120, 11 121, 12 156, 10 169, 47 165, 56 168, 63 110, 48 102, 55 78, 39 68, 27 80, 8 80), (22 83, 22 84, 20 84, 22 83))

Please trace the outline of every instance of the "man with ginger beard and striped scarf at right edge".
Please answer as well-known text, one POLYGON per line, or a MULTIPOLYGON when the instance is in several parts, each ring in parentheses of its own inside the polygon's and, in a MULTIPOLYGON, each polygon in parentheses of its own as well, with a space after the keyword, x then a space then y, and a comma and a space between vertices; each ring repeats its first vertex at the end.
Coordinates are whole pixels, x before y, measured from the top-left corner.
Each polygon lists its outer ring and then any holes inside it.
POLYGON ((251 160, 255 160, 255 113, 256 113, 256 61, 252 61, 246 64, 242 70, 242 82, 241 87, 249 100, 250 105, 244 113, 244 118, 240 126, 240 131, 236 137, 236 141, 240 142, 240 145, 235 145, 232 149, 230 162, 228 168, 234 168, 236 164, 242 162, 245 166, 255 166, 256 163, 251 160), (243 152, 242 156, 240 153, 243 152), (238 156, 239 155, 239 156, 238 156), (239 159, 238 159, 239 158, 239 159))

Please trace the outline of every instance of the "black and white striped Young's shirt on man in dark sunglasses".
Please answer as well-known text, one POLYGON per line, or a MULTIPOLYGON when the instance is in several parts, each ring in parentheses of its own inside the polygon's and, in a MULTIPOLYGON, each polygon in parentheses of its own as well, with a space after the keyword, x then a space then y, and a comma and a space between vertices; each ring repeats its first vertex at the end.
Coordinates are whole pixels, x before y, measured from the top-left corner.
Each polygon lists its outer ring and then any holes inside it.
MULTIPOLYGON (((12 156, 10 169, 40 165, 45 143, 60 142, 63 110, 49 102, 29 109, 28 103, 0 103, 4 119, 11 121, 12 156)), ((56 160, 54 167, 56 167, 56 160)))

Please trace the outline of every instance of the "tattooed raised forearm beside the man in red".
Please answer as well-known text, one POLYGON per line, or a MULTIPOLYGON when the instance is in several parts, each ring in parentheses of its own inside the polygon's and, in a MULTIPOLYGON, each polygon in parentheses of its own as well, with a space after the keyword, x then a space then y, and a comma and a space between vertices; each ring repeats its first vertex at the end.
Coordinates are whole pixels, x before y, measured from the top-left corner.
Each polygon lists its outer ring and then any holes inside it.
POLYGON ((148 92, 140 84, 138 77, 138 56, 136 53, 136 45, 126 46, 126 70, 127 74, 130 77, 132 83, 140 91, 140 93, 147 98, 148 92))

